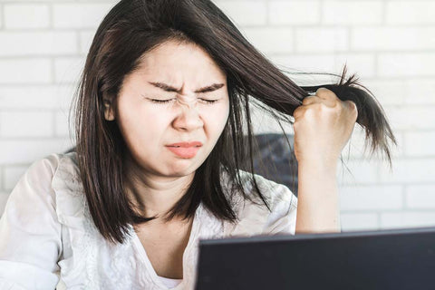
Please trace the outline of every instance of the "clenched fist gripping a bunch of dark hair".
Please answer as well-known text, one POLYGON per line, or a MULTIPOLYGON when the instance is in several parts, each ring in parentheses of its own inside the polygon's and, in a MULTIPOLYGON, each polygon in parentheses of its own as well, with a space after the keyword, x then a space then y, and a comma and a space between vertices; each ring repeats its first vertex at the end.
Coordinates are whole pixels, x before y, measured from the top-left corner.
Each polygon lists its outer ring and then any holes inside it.
POLYGON ((295 156, 298 163, 336 164, 358 117, 352 101, 341 101, 320 88, 294 111, 295 156))

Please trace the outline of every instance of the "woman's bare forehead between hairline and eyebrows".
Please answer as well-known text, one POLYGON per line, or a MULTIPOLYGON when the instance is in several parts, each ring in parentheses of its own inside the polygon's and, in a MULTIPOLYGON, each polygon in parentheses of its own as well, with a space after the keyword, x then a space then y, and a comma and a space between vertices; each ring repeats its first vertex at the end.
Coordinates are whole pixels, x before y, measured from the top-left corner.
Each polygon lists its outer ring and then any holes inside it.
POLYGON ((227 78, 202 47, 174 41, 162 43, 142 55, 138 73, 172 83, 224 82, 227 78))

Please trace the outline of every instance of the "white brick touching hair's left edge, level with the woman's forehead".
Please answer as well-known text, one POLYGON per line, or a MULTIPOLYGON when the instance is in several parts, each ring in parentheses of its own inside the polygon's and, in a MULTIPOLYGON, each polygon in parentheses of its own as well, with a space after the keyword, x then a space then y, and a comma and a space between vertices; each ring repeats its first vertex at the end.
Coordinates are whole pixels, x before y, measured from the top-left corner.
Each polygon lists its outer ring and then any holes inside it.
POLYGON ((56 83, 76 83, 84 68, 82 57, 58 58, 54 60, 54 80, 56 83))

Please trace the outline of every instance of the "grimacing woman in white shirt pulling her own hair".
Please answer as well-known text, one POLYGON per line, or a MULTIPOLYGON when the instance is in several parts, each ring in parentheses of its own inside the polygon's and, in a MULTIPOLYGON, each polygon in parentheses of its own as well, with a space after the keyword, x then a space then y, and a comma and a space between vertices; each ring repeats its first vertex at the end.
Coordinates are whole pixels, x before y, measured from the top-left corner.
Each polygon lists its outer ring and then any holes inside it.
POLYGON ((199 238, 339 231, 355 121, 390 158, 353 78, 297 86, 208 0, 123 0, 87 56, 76 152, 35 162, 8 200, 0 288, 53 289, 60 271, 67 288, 190 289, 199 238), (294 125, 298 201, 254 175, 251 98, 294 125))

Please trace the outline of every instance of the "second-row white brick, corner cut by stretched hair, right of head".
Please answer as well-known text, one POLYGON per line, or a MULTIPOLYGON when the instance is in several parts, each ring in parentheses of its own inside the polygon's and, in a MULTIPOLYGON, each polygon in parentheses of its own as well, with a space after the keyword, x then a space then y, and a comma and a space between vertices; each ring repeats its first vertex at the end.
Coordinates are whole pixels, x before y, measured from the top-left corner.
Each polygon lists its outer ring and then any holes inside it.
POLYGON ((291 28, 247 28, 247 40, 262 53, 291 53, 293 31, 291 28))

